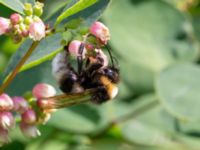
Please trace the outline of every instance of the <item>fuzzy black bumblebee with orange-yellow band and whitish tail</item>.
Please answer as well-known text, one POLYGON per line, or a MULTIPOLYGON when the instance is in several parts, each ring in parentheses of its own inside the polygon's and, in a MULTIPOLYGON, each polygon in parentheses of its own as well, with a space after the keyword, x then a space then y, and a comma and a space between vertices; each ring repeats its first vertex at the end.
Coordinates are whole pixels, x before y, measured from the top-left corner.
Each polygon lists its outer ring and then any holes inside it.
MULTIPOLYGON (((80 50, 81 52, 81 50, 80 50)), ((52 62, 52 72, 60 89, 66 93, 81 93, 94 89, 91 101, 101 104, 113 99, 118 93, 119 69, 108 65, 107 56, 100 50, 95 50, 95 56, 88 57, 85 66, 80 57, 77 58, 77 71, 72 67, 67 48, 56 55, 52 62)))

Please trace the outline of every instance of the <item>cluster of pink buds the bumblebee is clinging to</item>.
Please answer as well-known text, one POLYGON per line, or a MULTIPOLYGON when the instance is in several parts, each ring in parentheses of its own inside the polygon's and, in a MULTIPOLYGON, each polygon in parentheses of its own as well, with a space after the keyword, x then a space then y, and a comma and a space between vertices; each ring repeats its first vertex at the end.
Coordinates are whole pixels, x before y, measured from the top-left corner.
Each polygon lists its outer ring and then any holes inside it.
POLYGON ((107 56, 101 50, 110 40, 109 29, 101 22, 94 22, 89 29, 89 33, 85 35, 83 41, 73 40, 69 43, 68 51, 71 55, 82 58, 89 58, 90 62, 95 63, 96 57, 100 55, 104 60, 104 66, 108 65, 107 56), (80 47, 83 46, 80 53, 80 47), (94 56, 94 53, 97 54, 94 56))

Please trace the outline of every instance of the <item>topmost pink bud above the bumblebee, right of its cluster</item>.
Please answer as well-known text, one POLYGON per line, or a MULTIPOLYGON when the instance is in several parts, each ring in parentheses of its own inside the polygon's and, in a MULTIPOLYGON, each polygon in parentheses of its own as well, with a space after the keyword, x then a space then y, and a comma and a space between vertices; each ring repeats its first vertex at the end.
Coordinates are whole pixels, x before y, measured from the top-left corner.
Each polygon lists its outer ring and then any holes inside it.
POLYGON ((90 33, 99 38, 103 44, 110 40, 109 29, 101 22, 94 22, 90 27, 90 33))

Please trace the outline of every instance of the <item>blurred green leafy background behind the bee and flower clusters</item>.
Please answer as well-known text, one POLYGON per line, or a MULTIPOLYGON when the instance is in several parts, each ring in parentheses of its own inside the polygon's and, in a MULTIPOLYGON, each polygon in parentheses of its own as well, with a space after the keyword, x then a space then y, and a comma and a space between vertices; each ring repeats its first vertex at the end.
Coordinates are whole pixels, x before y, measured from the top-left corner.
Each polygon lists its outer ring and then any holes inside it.
MULTIPOLYGON (((43 18, 51 24, 48 15, 67 1, 46 2, 43 18)), ((108 2, 100 0, 100 10, 108 2)), ((11 13, 0 5, 1 16, 11 13)), ((111 31, 110 44, 120 65, 117 98, 100 106, 58 110, 40 126, 40 137, 27 139, 15 129, 12 142, 0 149, 200 150, 200 1, 113 0, 101 20, 111 31)), ((4 76, 20 44, 1 36, 0 45, 4 76)), ((50 63, 49 57, 21 72, 7 92, 22 95, 38 82, 55 85, 50 63)))

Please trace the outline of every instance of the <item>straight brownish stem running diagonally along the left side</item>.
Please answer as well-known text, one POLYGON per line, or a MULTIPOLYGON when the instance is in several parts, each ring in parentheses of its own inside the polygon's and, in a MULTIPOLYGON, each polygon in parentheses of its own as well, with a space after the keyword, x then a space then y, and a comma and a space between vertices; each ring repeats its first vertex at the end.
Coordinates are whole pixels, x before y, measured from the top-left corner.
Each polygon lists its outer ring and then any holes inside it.
POLYGON ((17 66, 13 69, 9 77, 6 79, 6 81, 3 83, 3 85, 0 87, 0 95, 5 91, 5 89, 10 85, 12 80, 15 78, 17 73, 20 71, 21 67, 24 65, 26 60, 31 56, 35 48, 38 46, 39 41, 33 42, 28 49, 28 51, 25 53, 25 55, 22 57, 22 59, 19 61, 17 66))

